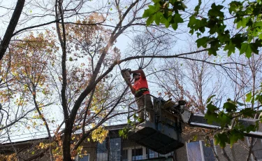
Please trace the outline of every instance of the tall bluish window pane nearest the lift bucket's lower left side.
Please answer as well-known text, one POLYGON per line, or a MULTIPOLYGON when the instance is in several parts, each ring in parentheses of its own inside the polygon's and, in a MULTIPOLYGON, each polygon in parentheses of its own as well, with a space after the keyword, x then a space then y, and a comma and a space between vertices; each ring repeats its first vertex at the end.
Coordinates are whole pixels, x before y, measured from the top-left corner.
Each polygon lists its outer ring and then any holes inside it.
POLYGON ((118 161, 121 158, 121 138, 110 139, 110 161, 118 161))

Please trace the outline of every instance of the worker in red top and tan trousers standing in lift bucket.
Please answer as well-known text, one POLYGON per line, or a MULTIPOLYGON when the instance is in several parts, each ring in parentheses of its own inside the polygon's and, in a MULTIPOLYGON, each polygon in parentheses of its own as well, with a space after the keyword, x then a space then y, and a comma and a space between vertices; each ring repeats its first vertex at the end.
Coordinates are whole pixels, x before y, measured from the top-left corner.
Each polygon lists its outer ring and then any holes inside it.
POLYGON ((136 97, 138 110, 141 110, 140 113, 138 114, 140 123, 145 121, 145 112, 144 112, 145 110, 148 113, 150 121, 153 122, 154 109, 153 109, 151 97, 150 95, 147 95, 150 94, 150 90, 148 89, 147 78, 145 77, 145 73, 142 69, 138 69, 136 71, 130 71, 130 73, 133 73, 133 79, 135 80, 135 83, 133 86, 131 85, 131 83, 129 83, 129 87, 131 89, 131 92, 136 97))

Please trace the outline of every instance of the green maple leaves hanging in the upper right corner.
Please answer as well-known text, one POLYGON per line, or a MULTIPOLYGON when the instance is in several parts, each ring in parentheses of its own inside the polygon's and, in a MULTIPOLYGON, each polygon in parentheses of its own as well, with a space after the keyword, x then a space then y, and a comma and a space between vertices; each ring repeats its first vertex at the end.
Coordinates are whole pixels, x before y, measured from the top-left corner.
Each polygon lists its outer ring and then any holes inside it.
POLYGON ((195 6, 194 11, 187 10, 184 1, 155 0, 145 10, 143 18, 147 18, 147 25, 155 22, 174 30, 186 22, 190 34, 196 34, 196 43, 199 47, 208 48, 209 55, 217 55, 217 51, 228 52, 228 56, 240 51, 251 57, 252 53, 259 54, 261 47, 261 1, 231 1, 221 4, 212 3, 206 13, 201 12, 201 3, 195 6), (184 14, 188 13, 188 18, 184 14), (232 32, 226 24, 233 20, 236 31, 232 32))

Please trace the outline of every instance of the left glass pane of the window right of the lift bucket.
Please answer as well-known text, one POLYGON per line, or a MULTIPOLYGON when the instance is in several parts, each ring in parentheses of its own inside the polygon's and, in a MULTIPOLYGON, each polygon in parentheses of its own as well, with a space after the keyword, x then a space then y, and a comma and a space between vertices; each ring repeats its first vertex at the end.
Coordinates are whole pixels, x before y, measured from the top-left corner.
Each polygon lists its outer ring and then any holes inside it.
POLYGON ((187 157, 189 161, 202 160, 199 141, 187 143, 187 157))

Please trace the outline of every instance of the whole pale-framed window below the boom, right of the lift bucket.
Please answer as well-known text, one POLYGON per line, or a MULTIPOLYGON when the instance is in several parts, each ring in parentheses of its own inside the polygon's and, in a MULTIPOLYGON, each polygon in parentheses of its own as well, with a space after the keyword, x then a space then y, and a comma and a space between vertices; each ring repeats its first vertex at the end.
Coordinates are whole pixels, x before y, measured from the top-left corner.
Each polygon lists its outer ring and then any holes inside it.
MULTIPOLYGON (((213 140, 211 146, 214 147, 213 140)), ((189 161, 215 161, 214 153, 211 147, 205 146, 204 141, 194 141, 187 143, 187 160, 189 161)))

